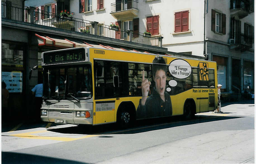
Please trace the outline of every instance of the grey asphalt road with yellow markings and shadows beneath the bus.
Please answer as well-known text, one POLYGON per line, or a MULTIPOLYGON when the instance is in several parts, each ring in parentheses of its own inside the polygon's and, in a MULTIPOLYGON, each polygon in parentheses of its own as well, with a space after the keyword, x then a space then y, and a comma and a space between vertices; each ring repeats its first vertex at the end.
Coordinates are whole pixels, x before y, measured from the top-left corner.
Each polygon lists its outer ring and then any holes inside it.
POLYGON ((2 163, 254 163, 254 102, 223 106, 223 114, 144 120, 125 130, 2 124, 2 163))

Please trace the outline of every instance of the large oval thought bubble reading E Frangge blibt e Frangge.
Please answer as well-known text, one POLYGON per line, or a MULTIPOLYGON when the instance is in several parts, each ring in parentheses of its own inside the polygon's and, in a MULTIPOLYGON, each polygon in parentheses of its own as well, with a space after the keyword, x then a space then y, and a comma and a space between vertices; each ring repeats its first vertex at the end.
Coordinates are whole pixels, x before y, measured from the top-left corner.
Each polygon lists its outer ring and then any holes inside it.
POLYGON ((182 59, 175 59, 170 62, 169 71, 172 76, 178 79, 187 78, 191 74, 190 64, 182 59))

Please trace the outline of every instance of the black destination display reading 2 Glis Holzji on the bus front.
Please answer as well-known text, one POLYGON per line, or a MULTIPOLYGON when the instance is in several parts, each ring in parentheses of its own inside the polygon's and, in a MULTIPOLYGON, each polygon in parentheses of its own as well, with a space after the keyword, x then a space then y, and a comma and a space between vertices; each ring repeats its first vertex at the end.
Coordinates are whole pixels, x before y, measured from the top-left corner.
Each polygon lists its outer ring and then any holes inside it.
POLYGON ((85 50, 84 48, 80 48, 63 51, 45 52, 43 58, 44 64, 84 61, 85 50))

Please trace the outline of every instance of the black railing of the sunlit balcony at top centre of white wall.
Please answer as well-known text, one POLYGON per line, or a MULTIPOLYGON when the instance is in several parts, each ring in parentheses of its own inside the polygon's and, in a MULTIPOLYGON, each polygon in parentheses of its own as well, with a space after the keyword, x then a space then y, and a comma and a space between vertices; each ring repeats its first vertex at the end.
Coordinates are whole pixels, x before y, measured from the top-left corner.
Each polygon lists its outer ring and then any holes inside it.
POLYGON ((111 3, 111 13, 128 9, 138 9, 138 0, 111 3))

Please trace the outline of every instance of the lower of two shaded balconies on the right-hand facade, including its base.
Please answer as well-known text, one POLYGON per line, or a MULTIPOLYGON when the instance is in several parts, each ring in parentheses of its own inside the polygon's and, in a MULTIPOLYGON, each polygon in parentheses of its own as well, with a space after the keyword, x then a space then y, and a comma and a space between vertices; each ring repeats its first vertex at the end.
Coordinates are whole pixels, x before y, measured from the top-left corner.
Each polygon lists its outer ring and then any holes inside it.
POLYGON ((254 44, 254 37, 244 33, 229 33, 230 49, 248 50, 254 44))

